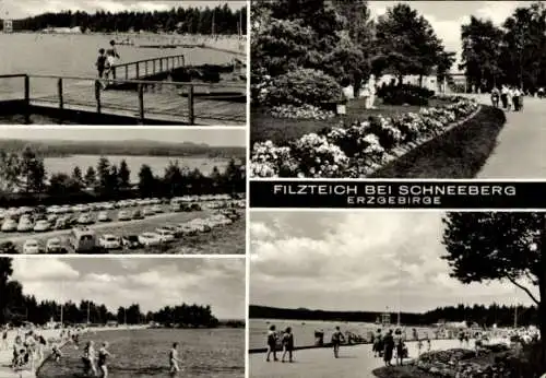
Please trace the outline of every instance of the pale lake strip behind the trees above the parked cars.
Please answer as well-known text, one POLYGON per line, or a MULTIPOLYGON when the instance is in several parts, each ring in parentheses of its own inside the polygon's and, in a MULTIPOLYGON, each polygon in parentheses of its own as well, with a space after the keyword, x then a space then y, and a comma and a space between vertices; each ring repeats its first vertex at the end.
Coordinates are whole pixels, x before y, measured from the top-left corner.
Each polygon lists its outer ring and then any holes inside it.
MULTIPOLYGON (((48 175, 63 173, 70 175, 75 166, 82 169, 82 175, 85 175, 88 166, 96 169, 99 155, 70 155, 67 157, 45 157, 44 165, 48 175)), ((131 170, 131 182, 139 181, 139 172, 143 164, 147 164, 155 175, 163 177, 165 168, 169 162, 178 161, 180 167, 188 166, 190 169, 198 168, 203 175, 210 175, 214 166, 219 172, 224 172, 229 163, 227 158, 212 158, 206 156, 124 156, 124 155, 106 155, 110 164, 119 167, 122 160, 126 160, 129 169, 131 170)))

